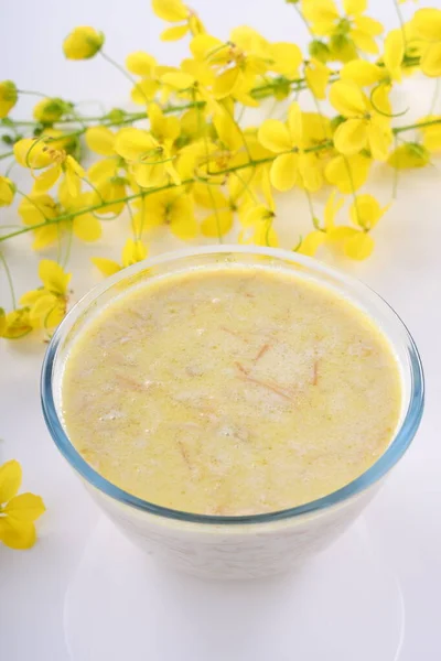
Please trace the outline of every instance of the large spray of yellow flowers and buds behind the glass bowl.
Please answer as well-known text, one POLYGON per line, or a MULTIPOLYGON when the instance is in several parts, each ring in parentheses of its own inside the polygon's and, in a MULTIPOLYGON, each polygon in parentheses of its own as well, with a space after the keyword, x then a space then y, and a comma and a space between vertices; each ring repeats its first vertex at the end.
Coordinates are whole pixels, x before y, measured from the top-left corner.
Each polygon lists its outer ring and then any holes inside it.
POLYGON ((51 332, 68 305, 72 241, 99 241, 103 223, 123 216, 130 234, 121 261, 92 260, 104 275, 144 259, 159 227, 184 241, 222 241, 229 234, 243 243, 278 246, 275 197, 292 188, 308 201, 311 230, 286 247, 356 260, 372 253, 375 227, 389 207, 362 191, 375 164, 395 171, 394 198, 399 170, 428 165, 441 151, 441 116, 430 111, 396 126, 402 112, 390 101, 409 76, 438 85, 441 10, 418 9, 405 21, 397 1, 397 28, 385 34, 366 13, 366 0, 342 0, 341 7, 286 1, 311 35, 306 53, 247 26, 223 41, 182 0, 152 0, 166 24, 161 37, 189 43, 179 66, 143 51, 130 53, 122 66, 107 54, 103 33, 73 30, 63 43, 65 57, 103 57, 116 66, 130 80, 136 112, 114 108, 87 117, 71 101, 39 94, 33 120, 22 122, 10 113, 30 93, 0 83, 1 139, 9 150, 0 154, 7 164, 0 206, 17 203, 22 224, 12 231, 0 225, 0 260, 12 294, 12 310, 0 308, 0 336, 51 332), (304 109, 308 97, 313 112, 304 109), (278 119, 244 128, 244 110, 265 109, 268 99, 281 104, 278 119), (88 167, 85 147, 96 156, 88 167), (19 169, 30 175, 25 193, 13 181, 19 169), (318 194, 327 199, 322 217, 314 209, 318 194), (3 247, 23 234, 53 259, 40 262, 40 286, 15 300, 3 247))

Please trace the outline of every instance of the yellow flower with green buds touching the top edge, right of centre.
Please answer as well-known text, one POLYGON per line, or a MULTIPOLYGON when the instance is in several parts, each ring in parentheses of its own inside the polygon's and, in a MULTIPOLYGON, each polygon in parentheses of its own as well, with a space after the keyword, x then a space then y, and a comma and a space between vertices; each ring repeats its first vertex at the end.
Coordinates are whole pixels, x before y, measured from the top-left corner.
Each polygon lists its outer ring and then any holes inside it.
MULTIPOLYGON (((333 0, 302 0, 302 11, 311 22, 312 31, 318 35, 330 35, 334 55, 338 55, 347 46, 364 53, 377 53, 375 36, 383 32, 378 21, 363 15, 367 0, 344 0, 345 15, 341 17, 333 0)), ((356 55, 355 55, 356 56, 356 55)), ((341 57, 338 57, 341 58, 341 57)))

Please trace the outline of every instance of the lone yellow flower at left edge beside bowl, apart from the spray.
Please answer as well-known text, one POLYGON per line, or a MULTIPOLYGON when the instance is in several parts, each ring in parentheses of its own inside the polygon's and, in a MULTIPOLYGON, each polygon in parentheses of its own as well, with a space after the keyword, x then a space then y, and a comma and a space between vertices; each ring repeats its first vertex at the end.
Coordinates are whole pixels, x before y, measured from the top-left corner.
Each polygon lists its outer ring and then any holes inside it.
POLYGON ((0 466, 0 541, 11 549, 30 549, 36 540, 34 521, 45 511, 40 496, 17 495, 22 470, 14 459, 0 466))

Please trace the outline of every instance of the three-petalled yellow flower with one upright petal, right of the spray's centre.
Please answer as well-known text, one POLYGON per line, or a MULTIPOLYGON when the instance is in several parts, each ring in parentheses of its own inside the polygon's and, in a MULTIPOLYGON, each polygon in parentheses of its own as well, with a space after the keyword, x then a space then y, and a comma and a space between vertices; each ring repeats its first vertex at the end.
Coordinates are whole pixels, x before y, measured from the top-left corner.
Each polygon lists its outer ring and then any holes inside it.
POLYGON ((297 102, 291 104, 288 121, 284 124, 276 119, 267 119, 260 126, 260 144, 273 153, 280 154, 271 165, 271 184, 278 191, 289 191, 295 184, 308 191, 318 191, 322 186, 322 173, 313 153, 303 151, 302 112, 297 102))

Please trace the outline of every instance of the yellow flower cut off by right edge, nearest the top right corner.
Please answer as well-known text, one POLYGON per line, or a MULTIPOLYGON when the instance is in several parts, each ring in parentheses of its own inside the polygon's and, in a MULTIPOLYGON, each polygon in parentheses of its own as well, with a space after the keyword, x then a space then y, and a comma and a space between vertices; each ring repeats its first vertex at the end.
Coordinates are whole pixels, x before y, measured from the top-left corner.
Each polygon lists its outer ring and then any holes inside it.
POLYGON ((441 76, 441 10, 419 9, 412 19, 412 28, 424 42, 420 59, 422 73, 434 78, 441 76))

